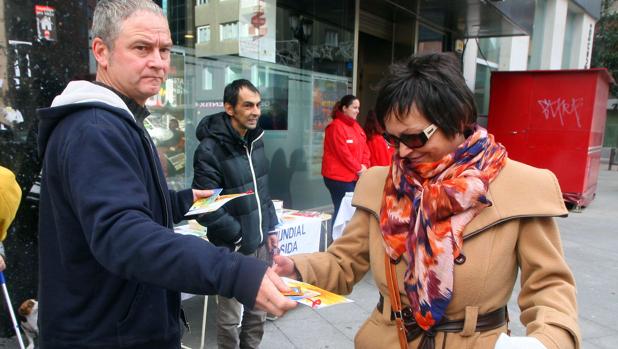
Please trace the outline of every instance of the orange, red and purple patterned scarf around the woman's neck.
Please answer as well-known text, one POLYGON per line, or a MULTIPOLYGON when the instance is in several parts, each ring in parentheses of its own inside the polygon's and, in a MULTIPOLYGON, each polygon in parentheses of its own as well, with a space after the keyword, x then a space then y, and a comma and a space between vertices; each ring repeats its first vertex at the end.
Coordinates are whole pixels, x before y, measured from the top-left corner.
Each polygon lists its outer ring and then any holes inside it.
POLYGON ((439 161, 413 164, 397 153, 393 158, 380 225, 386 253, 398 259, 407 252, 405 289, 426 331, 440 322, 451 301, 464 228, 491 205, 485 194, 506 159, 504 147, 480 126, 439 161))

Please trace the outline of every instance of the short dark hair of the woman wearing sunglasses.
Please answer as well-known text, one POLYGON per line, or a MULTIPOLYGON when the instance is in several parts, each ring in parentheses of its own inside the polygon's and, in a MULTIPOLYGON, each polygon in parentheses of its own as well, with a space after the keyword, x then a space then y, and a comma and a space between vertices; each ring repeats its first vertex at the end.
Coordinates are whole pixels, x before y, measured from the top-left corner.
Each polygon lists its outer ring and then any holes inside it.
POLYGON ((466 85, 461 65, 452 53, 412 56, 392 64, 378 85, 378 121, 394 116, 403 120, 416 106, 447 137, 464 133, 476 122, 474 95, 466 85))

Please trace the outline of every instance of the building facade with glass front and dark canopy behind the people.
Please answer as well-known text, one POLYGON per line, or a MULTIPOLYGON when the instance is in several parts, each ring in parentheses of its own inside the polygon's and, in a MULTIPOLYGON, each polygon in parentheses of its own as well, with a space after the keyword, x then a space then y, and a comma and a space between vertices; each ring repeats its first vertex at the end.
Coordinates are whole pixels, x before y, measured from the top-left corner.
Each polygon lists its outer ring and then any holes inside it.
MULTIPOLYGON (((148 127, 161 146, 170 184, 191 182, 195 125, 222 110, 223 87, 243 77, 262 92, 272 192, 286 206, 304 209, 330 202, 320 175, 322 142, 339 97, 359 96, 362 122, 390 63, 414 53, 453 51, 486 114, 491 71, 589 67, 601 1, 158 3, 168 14, 176 45, 172 73, 148 101, 153 112, 148 127), (168 142, 173 120, 184 132, 181 144, 168 142)), ((28 166, 19 159, 36 124, 35 109, 49 105, 69 80, 93 78, 89 26, 95 4, 2 2, 0 103, 11 120, 0 126, 2 163, 18 172, 28 166)))

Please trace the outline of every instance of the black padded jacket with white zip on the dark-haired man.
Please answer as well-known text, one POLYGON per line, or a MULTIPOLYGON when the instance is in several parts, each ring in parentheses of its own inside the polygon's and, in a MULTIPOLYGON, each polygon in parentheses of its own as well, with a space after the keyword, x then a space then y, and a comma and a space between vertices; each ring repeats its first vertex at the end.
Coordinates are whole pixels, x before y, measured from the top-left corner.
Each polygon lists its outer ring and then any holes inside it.
POLYGON ((223 188, 222 194, 255 192, 198 219, 208 227, 209 241, 244 254, 253 253, 277 225, 263 135, 256 128, 241 138, 224 112, 204 117, 196 130, 200 145, 193 157, 193 188, 223 188))

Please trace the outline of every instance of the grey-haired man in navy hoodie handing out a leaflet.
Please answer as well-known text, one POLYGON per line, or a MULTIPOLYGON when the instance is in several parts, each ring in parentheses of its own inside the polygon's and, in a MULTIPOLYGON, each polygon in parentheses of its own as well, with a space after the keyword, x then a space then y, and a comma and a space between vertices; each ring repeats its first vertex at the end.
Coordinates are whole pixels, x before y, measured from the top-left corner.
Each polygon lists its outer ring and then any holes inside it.
POLYGON ((97 81, 39 111, 40 347, 180 348, 181 291, 292 308, 265 263, 172 230, 211 191, 169 190, 143 127, 170 66, 161 9, 101 0, 92 33, 97 81))

